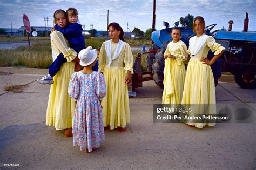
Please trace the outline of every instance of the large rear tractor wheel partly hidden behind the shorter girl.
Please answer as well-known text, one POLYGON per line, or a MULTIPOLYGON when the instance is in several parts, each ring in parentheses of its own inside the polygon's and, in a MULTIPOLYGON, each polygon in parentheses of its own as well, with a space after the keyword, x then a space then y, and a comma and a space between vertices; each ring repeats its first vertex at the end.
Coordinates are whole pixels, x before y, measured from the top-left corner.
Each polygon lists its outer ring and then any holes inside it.
POLYGON ((164 89, 164 52, 168 43, 164 43, 163 48, 158 49, 152 64, 153 79, 160 89, 164 89))

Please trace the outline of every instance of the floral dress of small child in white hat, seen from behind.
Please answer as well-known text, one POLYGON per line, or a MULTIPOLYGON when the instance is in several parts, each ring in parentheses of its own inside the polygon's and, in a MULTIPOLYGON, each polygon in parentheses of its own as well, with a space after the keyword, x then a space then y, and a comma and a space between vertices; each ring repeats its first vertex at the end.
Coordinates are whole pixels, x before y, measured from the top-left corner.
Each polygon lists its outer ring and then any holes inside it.
POLYGON ((76 104, 73 118, 73 145, 80 150, 99 147, 104 141, 104 127, 100 101, 106 95, 106 83, 99 72, 72 74, 68 93, 76 104))

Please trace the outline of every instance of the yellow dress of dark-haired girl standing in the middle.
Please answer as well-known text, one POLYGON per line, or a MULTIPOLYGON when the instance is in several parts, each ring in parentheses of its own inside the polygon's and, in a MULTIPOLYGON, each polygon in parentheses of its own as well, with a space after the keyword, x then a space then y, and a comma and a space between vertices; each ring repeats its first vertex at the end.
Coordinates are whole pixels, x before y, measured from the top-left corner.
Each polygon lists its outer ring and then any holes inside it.
MULTIPOLYGON (((111 42, 111 58, 114 56, 118 43, 111 42)), ((102 100, 103 124, 113 130, 125 127, 130 123, 128 87, 125 84, 125 73, 132 70, 133 56, 129 44, 124 42, 119 56, 109 64, 105 50, 105 42, 100 48, 99 72, 103 72, 106 81, 106 96, 102 100)))

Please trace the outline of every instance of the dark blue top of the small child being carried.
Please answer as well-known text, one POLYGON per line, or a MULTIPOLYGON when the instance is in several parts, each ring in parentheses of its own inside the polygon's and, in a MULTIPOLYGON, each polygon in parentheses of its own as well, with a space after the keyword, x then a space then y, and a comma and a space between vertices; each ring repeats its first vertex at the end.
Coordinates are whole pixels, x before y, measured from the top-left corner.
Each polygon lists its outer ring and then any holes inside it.
POLYGON ((68 40, 70 47, 77 53, 85 49, 82 25, 78 23, 69 24, 65 28, 61 28, 57 24, 54 26, 56 31, 59 31, 68 40))

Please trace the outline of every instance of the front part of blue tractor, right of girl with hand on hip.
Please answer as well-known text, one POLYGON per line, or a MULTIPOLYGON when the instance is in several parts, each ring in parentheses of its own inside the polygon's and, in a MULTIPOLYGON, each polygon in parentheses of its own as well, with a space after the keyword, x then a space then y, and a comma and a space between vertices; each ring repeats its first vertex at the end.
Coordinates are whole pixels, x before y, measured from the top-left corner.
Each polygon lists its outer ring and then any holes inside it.
POLYGON ((214 31, 216 42, 225 47, 221 56, 223 72, 234 74, 235 82, 244 89, 256 87, 256 32, 214 31))

